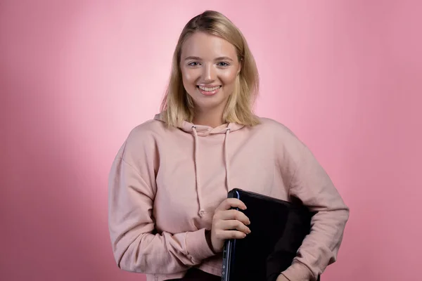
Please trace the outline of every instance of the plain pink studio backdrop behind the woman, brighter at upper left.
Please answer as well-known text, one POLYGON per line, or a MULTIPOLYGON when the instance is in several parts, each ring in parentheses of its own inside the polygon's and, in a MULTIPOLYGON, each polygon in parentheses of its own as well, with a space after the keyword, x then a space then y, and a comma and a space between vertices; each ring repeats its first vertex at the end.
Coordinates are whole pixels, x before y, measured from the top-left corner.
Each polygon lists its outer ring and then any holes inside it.
POLYGON ((243 30, 283 122, 351 208, 323 279, 420 280, 419 1, 1 1, 0 280, 145 280, 119 270, 107 177, 158 112, 181 28, 243 30))

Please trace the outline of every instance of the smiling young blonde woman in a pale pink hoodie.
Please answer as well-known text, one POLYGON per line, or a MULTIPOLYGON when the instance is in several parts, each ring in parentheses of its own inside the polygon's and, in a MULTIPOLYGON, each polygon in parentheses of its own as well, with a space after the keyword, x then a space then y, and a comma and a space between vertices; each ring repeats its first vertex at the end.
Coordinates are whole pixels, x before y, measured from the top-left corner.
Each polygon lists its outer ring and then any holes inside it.
POLYGON ((147 280, 219 280, 224 241, 253 223, 242 188, 300 199, 316 214, 281 280, 316 280, 336 259, 349 209, 304 143, 255 116, 255 61, 224 15, 191 19, 174 51, 160 114, 136 126, 110 171, 109 226, 117 266, 147 280), (234 230, 235 229, 235 230, 234 230))

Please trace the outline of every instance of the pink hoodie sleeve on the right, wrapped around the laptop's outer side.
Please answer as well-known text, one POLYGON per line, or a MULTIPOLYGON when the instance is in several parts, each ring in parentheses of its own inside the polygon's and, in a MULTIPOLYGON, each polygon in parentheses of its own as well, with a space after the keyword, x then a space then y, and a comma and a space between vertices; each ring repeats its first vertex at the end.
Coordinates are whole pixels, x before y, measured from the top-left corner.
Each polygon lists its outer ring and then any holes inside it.
MULTIPOLYGON (((311 233, 305 237, 292 265, 283 271, 288 280, 316 280, 337 259, 338 249, 349 218, 349 208, 326 171, 302 143, 298 161, 290 176, 289 197, 299 198, 311 211, 311 233)), ((296 147, 297 148, 297 147, 296 147)))

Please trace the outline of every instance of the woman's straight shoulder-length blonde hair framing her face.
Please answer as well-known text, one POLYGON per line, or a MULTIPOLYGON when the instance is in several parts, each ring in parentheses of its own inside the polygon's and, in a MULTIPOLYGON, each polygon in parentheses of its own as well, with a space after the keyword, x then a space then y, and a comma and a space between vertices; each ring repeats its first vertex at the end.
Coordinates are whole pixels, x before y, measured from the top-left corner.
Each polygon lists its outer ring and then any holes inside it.
POLYGON ((223 122, 235 122, 245 126, 260 124, 252 107, 259 90, 259 77, 255 60, 240 30, 222 13, 205 11, 189 20, 182 30, 174 50, 170 81, 161 103, 162 119, 170 126, 180 126, 182 122, 192 122, 193 100, 186 93, 181 78, 181 46, 194 32, 215 35, 236 48, 241 72, 236 77, 234 91, 229 96, 223 113, 223 122))

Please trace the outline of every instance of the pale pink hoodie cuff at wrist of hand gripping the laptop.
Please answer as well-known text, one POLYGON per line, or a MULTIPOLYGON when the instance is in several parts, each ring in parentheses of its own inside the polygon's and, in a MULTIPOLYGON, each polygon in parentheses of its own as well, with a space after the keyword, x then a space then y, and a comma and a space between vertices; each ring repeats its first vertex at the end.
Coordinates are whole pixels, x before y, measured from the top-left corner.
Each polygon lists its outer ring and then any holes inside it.
POLYGON ((186 250, 188 255, 196 261, 202 261, 215 255, 207 242, 205 228, 186 234, 186 250))

